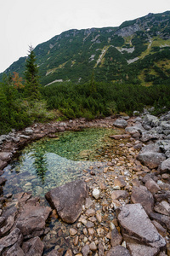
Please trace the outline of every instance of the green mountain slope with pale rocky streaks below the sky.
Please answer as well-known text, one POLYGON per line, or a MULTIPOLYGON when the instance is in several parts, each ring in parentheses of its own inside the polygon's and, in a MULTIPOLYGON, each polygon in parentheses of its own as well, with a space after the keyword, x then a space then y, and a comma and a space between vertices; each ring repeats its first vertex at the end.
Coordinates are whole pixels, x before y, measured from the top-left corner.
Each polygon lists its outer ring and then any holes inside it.
MULTIPOLYGON (((170 82, 170 11, 129 20, 118 27, 62 32, 35 48, 42 85, 71 80, 133 84, 170 82)), ((5 73, 23 76, 26 57, 5 73)), ((2 79, 3 73, 0 74, 2 79)))

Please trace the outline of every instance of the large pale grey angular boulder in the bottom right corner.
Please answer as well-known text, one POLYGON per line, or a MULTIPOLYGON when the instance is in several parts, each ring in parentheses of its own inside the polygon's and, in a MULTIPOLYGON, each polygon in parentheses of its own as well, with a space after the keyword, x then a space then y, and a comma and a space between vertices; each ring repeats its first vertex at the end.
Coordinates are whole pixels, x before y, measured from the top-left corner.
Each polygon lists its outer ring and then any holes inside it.
POLYGON ((122 227, 122 235, 127 242, 137 242, 150 247, 161 248, 166 241, 158 233, 156 227, 140 204, 129 204, 117 211, 117 218, 122 227))

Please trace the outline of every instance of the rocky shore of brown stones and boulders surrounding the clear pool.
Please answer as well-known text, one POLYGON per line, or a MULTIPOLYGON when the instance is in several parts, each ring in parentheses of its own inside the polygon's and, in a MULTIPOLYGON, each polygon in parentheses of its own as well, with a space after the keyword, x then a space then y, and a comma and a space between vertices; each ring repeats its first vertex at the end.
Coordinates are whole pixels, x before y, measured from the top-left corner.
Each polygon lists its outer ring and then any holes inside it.
POLYGON ((29 193, 3 196, 0 176, 0 255, 170 255, 170 112, 159 119, 76 119, 12 131, 0 136, 0 174, 27 143, 94 126, 122 128, 111 136, 111 160, 102 172, 92 169, 48 191, 51 207, 29 193), (49 218, 59 219, 52 230, 49 218))

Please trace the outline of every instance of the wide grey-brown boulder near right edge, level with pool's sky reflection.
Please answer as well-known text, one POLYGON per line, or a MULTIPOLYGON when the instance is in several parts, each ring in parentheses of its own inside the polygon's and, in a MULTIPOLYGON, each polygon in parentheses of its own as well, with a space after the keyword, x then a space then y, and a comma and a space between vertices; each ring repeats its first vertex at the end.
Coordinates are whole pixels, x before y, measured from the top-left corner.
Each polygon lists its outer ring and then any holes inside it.
POLYGON ((166 160, 166 157, 165 154, 145 151, 139 152, 137 160, 139 160, 145 166, 148 166, 150 169, 153 169, 159 166, 162 161, 166 160))

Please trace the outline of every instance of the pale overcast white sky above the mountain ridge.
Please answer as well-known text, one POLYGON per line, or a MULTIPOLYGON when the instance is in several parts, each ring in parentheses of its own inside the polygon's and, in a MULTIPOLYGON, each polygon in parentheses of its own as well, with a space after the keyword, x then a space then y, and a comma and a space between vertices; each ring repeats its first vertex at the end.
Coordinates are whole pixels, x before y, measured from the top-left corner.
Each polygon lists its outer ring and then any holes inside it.
POLYGON ((69 29, 120 26, 170 10, 170 0, 0 0, 0 73, 28 54, 29 45, 69 29))

